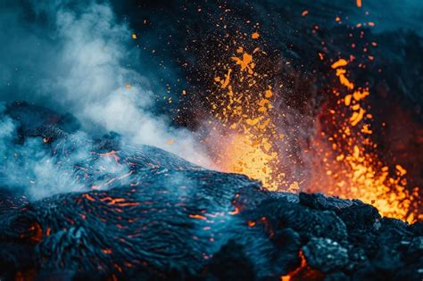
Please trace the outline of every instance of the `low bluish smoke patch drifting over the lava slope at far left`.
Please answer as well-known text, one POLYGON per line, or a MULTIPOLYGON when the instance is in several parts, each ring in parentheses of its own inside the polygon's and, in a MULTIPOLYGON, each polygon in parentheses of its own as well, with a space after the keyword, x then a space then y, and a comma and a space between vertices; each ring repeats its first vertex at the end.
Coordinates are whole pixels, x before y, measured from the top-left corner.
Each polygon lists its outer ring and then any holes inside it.
MULTIPOLYGON (((26 112, 30 114, 30 112, 26 112)), ((23 193, 31 199, 53 194, 109 186, 120 179, 128 184, 129 167, 95 151, 95 142, 82 131, 62 134, 58 139, 28 136, 31 130, 12 119, 0 103, 0 186, 23 193), (22 127, 23 126, 23 127, 22 127), (18 133, 27 131, 23 139, 18 133), (28 134, 29 133, 29 134, 28 134)), ((48 129, 46 129, 48 130, 48 129)), ((112 186, 111 186, 112 187, 112 186)))

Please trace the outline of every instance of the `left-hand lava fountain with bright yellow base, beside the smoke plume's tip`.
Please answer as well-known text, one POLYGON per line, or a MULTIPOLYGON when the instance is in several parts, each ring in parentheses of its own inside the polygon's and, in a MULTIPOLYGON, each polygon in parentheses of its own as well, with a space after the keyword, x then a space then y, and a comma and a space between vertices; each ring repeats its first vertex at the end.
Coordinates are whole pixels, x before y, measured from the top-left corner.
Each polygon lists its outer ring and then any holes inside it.
POLYGON ((273 92, 261 82, 265 75, 255 70, 254 56, 260 54, 258 47, 247 52, 238 46, 223 66, 223 78, 214 78, 218 95, 210 102, 220 124, 213 128, 220 132, 220 142, 206 142, 212 146, 220 169, 243 173, 276 190, 281 176, 273 168, 279 161, 273 144, 277 126, 270 117, 273 92))

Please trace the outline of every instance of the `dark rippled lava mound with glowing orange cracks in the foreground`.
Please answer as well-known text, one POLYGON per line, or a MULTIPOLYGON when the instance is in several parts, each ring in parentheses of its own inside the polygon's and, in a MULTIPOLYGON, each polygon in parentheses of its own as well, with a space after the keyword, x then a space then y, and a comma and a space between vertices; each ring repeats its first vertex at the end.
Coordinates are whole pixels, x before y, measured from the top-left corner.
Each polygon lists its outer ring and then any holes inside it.
POLYGON ((421 222, 359 200, 270 192, 117 134, 80 136, 72 116, 27 103, 1 120, 14 125, 6 161, 27 169, 21 158, 41 154, 69 191, 37 199, 41 178, 27 194, 2 169, 2 280, 423 277, 421 222))

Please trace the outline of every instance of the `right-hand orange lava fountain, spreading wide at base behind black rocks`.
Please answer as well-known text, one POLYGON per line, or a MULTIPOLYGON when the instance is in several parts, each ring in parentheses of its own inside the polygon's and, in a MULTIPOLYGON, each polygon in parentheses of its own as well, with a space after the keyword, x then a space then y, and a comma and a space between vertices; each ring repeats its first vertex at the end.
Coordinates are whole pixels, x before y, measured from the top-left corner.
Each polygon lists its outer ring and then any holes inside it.
MULTIPOLYGON (((374 205, 383 216, 413 222, 418 219, 419 187, 412 190, 407 187, 404 178, 407 170, 401 165, 396 164, 393 171, 379 161, 376 153, 371 153, 377 144, 366 137, 373 133, 369 124, 372 115, 367 113, 364 103, 370 95, 369 89, 354 90, 352 83, 345 83, 348 81, 344 68, 347 64, 346 60, 340 59, 331 65, 336 70, 340 84, 347 89, 347 94, 341 96, 340 103, 337 103, 340 108, 334 112, 346 112, 347 115, 345 119, 340 119, 340 114, 334 116, 332 125, 339 132, 328 136, 332 150, 325 148, 325 144, 319 144, 318 138, 315 139, 320 146, 318 153, 325 155, 321 161, 324 169, 320 173, 326 174, 326 177, 316 177, 319 178, 319 186, 310 186, 310 189, 342 198, 358 198, 374 205), (324 178, 326 186, 323 189, 321 178, 324 178)), ((340 94, 337 91, 334 93, 340 94)), ((320 136, 327 135, 321 132, 320 136)))

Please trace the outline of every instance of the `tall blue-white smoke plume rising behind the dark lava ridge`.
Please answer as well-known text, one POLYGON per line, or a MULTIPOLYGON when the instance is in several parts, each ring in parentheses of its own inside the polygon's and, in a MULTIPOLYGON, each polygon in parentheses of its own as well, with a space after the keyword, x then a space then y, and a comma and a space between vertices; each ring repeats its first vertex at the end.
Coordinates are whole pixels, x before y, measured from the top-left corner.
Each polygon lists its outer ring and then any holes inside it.
POLYGON ((0 86, 3 100, 71 112, 92 133, 115 131, 126 142, 154 145, 208 164, 187 129, 155 110, 132 31, 107 2, 2 4, 0 86), (3 40, 2 40, 3 41, 3 40))

